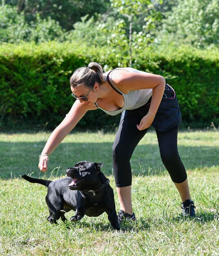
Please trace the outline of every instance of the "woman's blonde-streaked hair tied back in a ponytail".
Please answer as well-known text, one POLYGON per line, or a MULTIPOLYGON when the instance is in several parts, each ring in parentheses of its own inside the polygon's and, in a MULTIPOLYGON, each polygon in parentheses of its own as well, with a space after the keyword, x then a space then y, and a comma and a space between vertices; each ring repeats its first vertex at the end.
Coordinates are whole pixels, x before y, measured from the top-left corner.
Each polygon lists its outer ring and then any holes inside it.
POLYGON ((103 84, 106 76, 103 74, 102 66, 97 62, 90 62, 88 67, 79 67, 70 78, 71 87, 80 85, 93 88, 95 83, 103 84))

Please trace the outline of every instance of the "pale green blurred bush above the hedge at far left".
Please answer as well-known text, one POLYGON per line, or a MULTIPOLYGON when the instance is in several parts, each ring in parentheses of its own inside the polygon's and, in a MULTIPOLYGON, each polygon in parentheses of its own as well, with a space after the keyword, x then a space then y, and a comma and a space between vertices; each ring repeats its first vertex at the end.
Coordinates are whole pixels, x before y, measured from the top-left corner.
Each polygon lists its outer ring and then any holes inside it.
POLYGON ((35 41, 36 43, 63 38, 63 31, 58 22, 50 17, 46 19, 36 15, 35 22, 29 24, 25 20, 24 12, 7 4, 0 5, 0 43, 20 43, 35 41))

